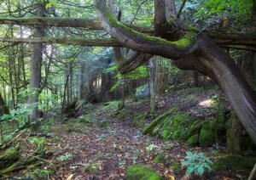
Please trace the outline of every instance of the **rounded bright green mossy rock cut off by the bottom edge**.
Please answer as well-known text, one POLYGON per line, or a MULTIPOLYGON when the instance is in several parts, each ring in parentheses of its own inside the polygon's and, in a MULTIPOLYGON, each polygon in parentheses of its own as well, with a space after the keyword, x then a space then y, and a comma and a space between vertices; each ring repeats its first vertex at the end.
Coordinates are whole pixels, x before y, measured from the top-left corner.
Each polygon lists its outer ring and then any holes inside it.
POLYGON ((148 166, 136 165, 128 167, 126 174, 126 180, 162 180, 154 170, 148 166))

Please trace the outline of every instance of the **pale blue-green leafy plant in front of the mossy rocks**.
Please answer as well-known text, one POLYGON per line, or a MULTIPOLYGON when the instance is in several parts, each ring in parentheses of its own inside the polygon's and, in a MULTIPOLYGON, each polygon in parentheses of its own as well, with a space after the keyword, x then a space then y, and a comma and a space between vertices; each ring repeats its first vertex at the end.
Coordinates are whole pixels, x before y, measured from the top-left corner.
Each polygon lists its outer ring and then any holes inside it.
POLYGON ((186 152, 187 156, 185 160, 182 161, 182 166, 187 166, 186 174, 199 174, 200 176, 206 171, 212 171, 210 165, 212 165, 212 160, 210 160, 203 153, 192 153, 190 151, 186 152))

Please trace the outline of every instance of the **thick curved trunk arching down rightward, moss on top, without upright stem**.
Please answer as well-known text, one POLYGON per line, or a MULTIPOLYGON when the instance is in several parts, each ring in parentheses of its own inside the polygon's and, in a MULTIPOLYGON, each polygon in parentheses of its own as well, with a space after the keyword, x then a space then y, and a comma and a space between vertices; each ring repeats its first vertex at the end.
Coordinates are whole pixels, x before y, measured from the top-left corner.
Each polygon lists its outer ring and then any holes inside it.
POLYGON ((103 28, 125 47, 173 59, 181 69, 198 70, 222 87, 236 114, 256 144, 256 98, 235 62, 203 33, 189 31, 175 42, 149 37, 120 24, 104 0, 95 0, 103 28))

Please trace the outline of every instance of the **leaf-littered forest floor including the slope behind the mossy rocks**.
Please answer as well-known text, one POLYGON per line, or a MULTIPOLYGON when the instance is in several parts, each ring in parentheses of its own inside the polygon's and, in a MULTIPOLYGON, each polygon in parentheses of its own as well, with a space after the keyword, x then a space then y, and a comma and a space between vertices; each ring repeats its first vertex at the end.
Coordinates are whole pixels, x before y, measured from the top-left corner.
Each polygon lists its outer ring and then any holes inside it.
MULTIPOLYGON (((194 88, 169 93, 159 98, 156 115, 161 115, 173 106, 178 106, 190 116, 207 118, 213 109, 207 107, 207 99, 218 95, 216 89, 194 88)), ((132 115, 148 112, 148 100, 127 102, 125 110, 128 113, 125 120, 120 121, 110 115, 111 109, 104 109, 104 104, 87 104, 79 115, 92 115, 91 123, 80 123, 78 118, 58 117, 47 132, 51 138, 47 151, 53 155, 44 160, 41 169, 51 171, 49 179, 125 179, 125 171, 131 165, 146 165, 152 167, 165 179, 246 179, 248 173, 226 171, 220 173, 205 173, 203 176, 187 177, 185 169, 172 171, 170 164, 180 164, 186 156, 186 151, 203 152, 211 160, 226 152, 218 149, 189 147, 185 142, 172 142, 160 138, 143 135, 143 127, 133 127, 132 115), (103 121, 108 121, 102 126, 103 121), (157 155, 165 155, 163 162, 155 160, 157 155)), ((154 117, 148 117, 147 122, 154 117)), ((44 179, 44 178, 42 178, 44 179)))

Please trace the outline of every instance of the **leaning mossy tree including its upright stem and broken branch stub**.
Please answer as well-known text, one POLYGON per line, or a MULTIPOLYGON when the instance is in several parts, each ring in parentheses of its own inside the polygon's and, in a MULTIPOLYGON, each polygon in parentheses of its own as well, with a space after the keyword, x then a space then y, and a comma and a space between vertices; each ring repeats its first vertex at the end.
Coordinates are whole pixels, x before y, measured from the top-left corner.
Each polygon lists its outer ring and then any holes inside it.
POLYGON ((137 57, 143 54, 140 60, 133 58, 119 65, 119 70, 124 73, 133 70, 147 61, 150 54, 156 54, 172 59, 180 69, 197 70, 210 76, 223 89, 256 144, 256 97, 235 62, 204 32, 182 25, 177 19, 174 1, 155 0, 154 3, 154 36, 148 36, 116 20, 105 0, 95 0, 102 27, 126 48, 140 52, 137 57), (171 13, 166 15, 167 11, 171 13))

